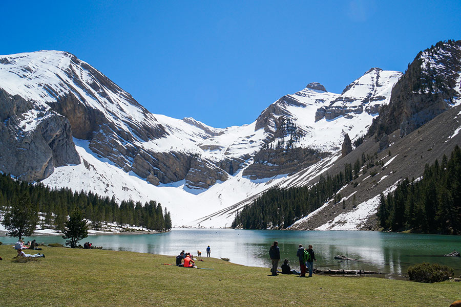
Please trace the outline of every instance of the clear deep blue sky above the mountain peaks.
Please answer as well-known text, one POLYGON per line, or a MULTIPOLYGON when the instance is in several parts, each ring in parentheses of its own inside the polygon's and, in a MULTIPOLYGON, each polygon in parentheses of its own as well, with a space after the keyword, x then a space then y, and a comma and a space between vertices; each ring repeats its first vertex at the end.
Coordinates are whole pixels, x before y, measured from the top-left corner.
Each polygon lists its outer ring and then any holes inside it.
POLYGON ((461 39, 460 1, 60 1, 2 3, 0 54, 63 50, 154 114, 214 127, 253 122, 285 94, 405 71, 461 39))

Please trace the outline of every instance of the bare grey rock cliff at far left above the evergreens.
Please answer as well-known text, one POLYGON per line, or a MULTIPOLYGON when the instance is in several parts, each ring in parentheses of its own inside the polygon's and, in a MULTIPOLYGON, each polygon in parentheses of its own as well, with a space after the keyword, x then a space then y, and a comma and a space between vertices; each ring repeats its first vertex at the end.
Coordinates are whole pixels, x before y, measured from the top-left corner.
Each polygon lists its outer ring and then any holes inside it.
POLYGON ((69 121, 0 89, 0 170, 26 181, 47 178, 57 166, 78 164, 69 121))

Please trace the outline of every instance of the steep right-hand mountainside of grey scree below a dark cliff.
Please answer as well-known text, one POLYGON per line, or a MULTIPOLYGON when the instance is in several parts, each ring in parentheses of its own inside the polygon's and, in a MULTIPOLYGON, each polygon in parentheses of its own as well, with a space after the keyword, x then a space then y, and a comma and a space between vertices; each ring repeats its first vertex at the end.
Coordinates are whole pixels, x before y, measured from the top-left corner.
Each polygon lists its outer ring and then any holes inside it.
MULTIPOLYGON (((380 193, 393 191, 396 183, 406 177, 421 177, 426 164, 450 155, 461 143, 460 46, 461 41, 439 42, 418 54, 393 87, 390 103, 384 105, 380 116, 373 120, 368 132, 371 137, 347 156, 339 159, 340 152, 337 152, 337 160, 332 165, 319 163, 312 167, 317 168, 316 172, 304 170, 278 184, 280 187, 312 186, 325 169, 334 176, 344 172, 347 164, 360 167, 338 194, 300 218, 290 229, 378 229, 374 214, 380 193)), ((250 204, 256 196, 239 203, 239 208, 250 204)), ((236 209, 232 206, 220 213, 235 213, 236 209)))

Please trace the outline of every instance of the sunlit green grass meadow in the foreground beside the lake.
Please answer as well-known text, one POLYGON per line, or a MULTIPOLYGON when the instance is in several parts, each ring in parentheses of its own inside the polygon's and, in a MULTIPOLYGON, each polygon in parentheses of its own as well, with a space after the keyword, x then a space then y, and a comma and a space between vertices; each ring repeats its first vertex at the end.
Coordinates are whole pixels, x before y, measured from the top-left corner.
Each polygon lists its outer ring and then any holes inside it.
POLYGON ((197 261, 213 270, 197 270, 162 265, 174 264, 172 256, 47 247, 41 252, 45 258, 15 263, 16 251, 0 246, 0 306, 408 307, 461 299, 461 282, 272 277, 269 268, 216 258, 197 261))

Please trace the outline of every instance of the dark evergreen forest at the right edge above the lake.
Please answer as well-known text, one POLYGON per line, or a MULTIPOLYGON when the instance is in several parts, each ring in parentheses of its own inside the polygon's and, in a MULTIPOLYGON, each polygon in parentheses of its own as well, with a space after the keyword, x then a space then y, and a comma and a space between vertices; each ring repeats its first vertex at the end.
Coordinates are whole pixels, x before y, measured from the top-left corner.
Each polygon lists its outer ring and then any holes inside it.
POLYGON ((406 178, 393 193, 381 194, 378 218, 381 227, 392 231, 461 234, 461 150, 450 159, 426 164, 423 178, 406 178))

